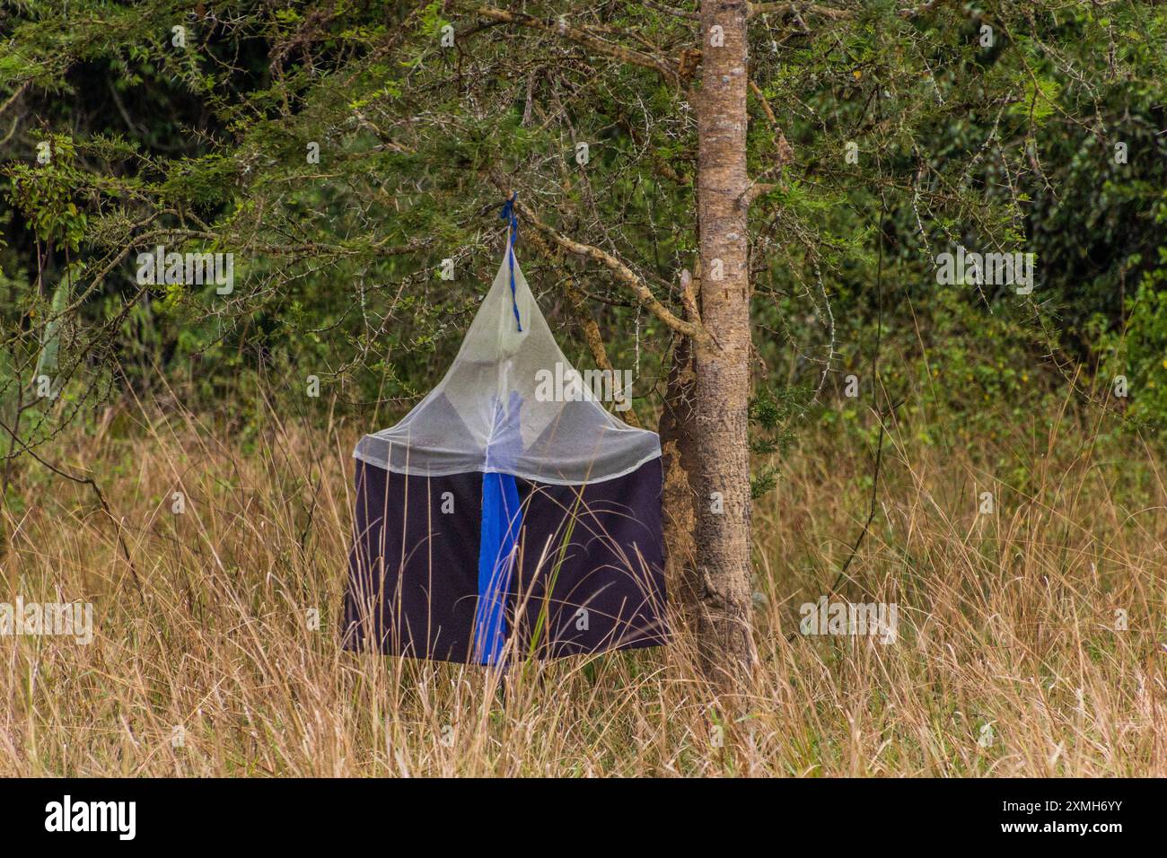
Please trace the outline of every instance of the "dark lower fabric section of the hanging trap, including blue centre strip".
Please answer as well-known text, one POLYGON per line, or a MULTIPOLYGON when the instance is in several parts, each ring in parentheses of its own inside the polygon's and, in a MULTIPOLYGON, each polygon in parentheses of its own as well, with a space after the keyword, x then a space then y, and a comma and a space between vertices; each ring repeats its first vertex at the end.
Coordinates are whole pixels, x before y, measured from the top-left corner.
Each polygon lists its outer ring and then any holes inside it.
POLYGON ((582 487, 358 461, 344 646, 489 663, 499 639, 520 660, 665 643, 661 491, 659 459, 582 487), (483 557, 512 553, 483 586, 483 557), (499 634, 478 647, 480 627, 499 634))

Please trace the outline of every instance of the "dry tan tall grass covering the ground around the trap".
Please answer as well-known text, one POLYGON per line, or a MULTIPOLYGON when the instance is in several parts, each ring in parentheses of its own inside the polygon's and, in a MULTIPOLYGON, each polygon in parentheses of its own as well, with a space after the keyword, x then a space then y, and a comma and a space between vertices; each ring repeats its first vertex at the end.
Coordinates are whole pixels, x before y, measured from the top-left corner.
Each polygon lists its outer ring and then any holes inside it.
POLYGON ((955 452, 893 432, 840 588, 899 606, 889 644, 798 634, 871 469, 804 433, 755 510, 763 661, 715 704, 683 642, 516 670, 504 696, 477 668, 341 651, 362 427, 271 420, 123 409, 46 451, 95 475, 141 592, 89 487, 18 475, 0 601, 91 601, 97 635, 0 637, 0 774, 1167 775, 1161 461, 1092 425, 955 452))

